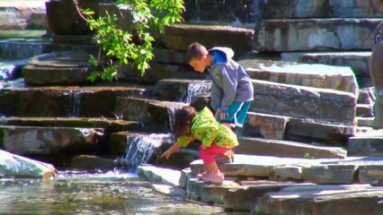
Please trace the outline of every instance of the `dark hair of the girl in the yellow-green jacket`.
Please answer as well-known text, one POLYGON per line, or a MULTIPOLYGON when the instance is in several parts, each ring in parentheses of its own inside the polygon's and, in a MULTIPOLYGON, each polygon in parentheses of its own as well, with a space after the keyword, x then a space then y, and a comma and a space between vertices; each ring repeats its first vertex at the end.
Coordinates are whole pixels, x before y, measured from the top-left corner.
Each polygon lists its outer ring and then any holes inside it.
POLYGON ((197 116, 197 111, 191 106, 175 110, 173 127, 175 138, 191 133, 191 121, 195 116, 197 116))

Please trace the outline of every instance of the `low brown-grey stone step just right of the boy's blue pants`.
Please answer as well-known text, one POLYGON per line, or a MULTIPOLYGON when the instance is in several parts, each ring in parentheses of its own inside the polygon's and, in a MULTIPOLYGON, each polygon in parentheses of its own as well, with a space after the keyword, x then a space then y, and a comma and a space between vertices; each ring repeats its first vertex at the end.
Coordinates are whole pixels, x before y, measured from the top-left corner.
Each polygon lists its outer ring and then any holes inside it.
POLYGON ((325 124, 308 119, 249 112, 243 129, 238 134, 245 137, 344 147, 348 138, 362 129, 358 128, 352 125, 325 124))

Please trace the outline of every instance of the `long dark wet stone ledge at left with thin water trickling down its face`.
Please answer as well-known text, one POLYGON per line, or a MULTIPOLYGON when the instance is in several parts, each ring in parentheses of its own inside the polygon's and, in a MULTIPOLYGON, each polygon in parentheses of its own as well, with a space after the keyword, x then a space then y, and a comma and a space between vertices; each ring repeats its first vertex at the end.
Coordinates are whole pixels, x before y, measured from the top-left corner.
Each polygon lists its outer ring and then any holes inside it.
POLYGON ((115 117, 113 109, 118 97, 143 97, 146 91, 112 86, 1 89, 0 113, 3 116, 115 117))

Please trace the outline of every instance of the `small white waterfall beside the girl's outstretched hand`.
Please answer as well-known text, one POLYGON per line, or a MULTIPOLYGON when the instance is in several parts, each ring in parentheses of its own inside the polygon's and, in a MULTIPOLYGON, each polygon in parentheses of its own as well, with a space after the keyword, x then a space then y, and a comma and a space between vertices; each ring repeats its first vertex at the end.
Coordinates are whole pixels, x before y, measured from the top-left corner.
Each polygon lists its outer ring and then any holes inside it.
POLYGON ((171 141, 170 133, 133 134, 127 136, 126 154, 121 158, 121 166, 135 172, 139 165, 156 159, 158 147, 171 141))

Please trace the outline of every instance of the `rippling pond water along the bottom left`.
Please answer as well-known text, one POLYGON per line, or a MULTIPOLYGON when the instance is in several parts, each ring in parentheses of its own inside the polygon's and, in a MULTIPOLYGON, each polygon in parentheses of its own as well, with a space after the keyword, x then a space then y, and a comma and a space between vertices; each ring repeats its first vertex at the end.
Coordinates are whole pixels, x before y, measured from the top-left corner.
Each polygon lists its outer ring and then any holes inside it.
MULTIPOLYGON (((133 174, 61 172, 48 183, 0 181, 0 214, 235 214, 152 190, 133 174)), ((237 213, 236 213, 237 214, 237 213)))

